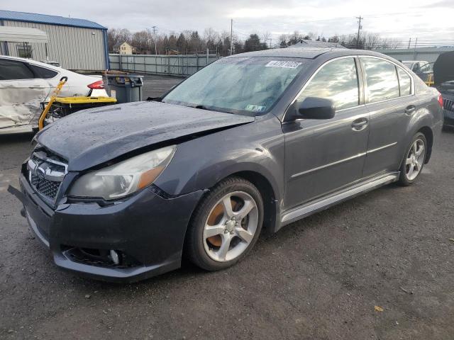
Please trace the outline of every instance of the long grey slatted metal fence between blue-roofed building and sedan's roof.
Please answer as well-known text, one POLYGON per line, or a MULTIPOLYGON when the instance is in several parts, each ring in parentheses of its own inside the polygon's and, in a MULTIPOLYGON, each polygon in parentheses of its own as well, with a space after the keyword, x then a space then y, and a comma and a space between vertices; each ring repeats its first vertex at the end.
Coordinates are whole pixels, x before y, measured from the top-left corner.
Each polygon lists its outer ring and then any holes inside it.
POLYGON ((187 77, 218 60, 217 55, 109 55, 111 69, 187 77))

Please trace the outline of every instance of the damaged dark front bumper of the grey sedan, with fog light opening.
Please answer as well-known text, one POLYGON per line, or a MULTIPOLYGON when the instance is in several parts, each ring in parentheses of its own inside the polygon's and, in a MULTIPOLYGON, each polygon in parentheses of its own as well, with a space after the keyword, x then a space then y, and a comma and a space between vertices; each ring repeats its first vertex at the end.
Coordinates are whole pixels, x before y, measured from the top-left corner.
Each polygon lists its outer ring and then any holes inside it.
POLYGON ((117 204, 60 204, 54 209, 21 174, 24 206, 33 232, 57 266, 101 280, 133 282, 179 268, 184 235, 203 191, 160 196, 149 187, 117 204), (117 258, 112 258, 114 251, 117 258))

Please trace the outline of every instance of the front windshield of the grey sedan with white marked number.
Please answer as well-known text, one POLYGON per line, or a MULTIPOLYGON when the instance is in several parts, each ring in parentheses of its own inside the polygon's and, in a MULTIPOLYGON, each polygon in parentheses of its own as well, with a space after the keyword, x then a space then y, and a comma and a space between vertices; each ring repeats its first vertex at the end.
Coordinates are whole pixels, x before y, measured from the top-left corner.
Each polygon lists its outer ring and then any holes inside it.
POLYGON ((162 102, 228 113, 266 113, 306 62, 299 58, 224 58, 179 84, 162 102))

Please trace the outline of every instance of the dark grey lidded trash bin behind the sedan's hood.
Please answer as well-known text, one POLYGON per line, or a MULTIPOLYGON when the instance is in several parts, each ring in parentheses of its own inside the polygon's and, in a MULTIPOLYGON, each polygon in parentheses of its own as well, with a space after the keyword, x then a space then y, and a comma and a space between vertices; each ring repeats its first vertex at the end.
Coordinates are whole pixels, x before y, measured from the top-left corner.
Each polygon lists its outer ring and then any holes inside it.
POLYGON ((137 74, 104 74, 104 87, 117 103, 142 101, 143 76, 137 74))

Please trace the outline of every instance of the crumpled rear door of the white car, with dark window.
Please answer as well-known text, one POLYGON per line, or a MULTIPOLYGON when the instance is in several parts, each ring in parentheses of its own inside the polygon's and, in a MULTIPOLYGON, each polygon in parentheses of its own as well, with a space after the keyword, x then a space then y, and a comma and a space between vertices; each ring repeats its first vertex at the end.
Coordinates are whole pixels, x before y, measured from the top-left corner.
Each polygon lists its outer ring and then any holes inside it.
POLYGON ((0 58, 0 129, 38 120, 40 103, 50 91, 26 62, 0 58))

